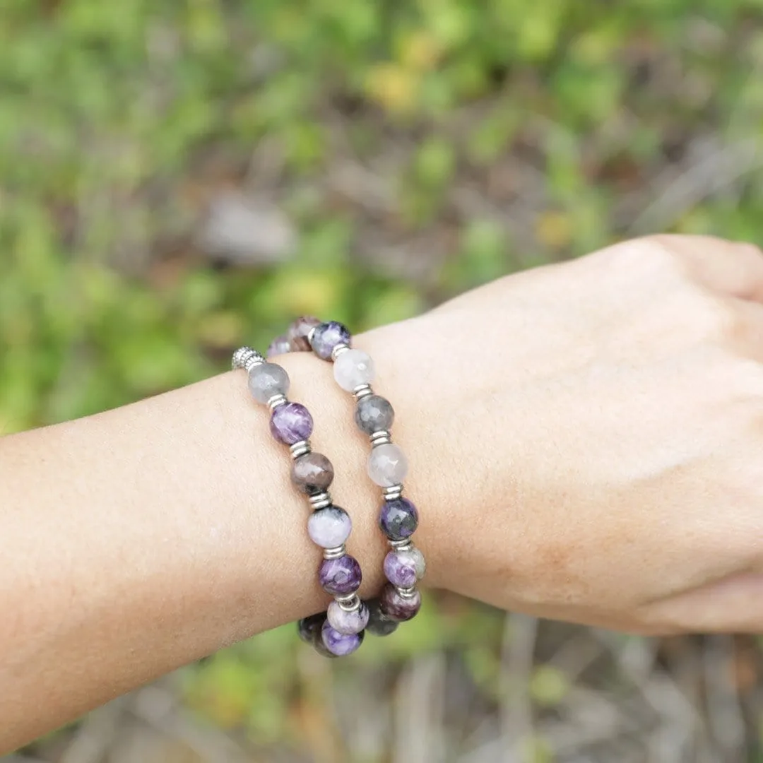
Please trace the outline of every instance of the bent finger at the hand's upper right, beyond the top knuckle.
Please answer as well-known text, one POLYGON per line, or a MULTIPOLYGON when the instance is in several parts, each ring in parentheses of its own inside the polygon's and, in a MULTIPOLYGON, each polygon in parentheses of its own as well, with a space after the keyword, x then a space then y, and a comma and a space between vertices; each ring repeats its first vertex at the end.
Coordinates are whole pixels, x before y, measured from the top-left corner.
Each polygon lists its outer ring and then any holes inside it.
POLYGON ((684 263, 692 278, 721 294, 763 303, 763 253, 751 243, 712 236, 652 236, 684 263))

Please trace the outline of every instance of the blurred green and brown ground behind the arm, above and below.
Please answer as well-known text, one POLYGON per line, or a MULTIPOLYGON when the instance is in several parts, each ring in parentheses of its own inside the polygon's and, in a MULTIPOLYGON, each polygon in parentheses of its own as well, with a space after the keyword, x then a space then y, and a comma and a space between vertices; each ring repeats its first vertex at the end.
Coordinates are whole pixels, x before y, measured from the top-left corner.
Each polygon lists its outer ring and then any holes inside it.
MULTIPOLYGON (((761 0, 0 0, 0 427, 651 231, 763 243, 761 0)), ((761 650, 446 595, 292 627, 5 763, 763 761, 761 650)))

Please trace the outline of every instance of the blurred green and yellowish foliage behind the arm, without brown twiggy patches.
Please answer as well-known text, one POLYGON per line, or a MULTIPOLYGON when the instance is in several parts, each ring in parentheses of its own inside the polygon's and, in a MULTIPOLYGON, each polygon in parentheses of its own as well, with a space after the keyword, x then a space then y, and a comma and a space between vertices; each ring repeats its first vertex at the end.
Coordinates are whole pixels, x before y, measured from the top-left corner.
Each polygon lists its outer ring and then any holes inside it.
MULTIPOLYGON (((295 314, 359 329, 584 253, 626 235, 639 210, 618 201, 648 190, 695 138, 763 137, 763 0, 5 0, 0 17, 5 431, 210 375, 295 314), (385 221, 402 237, 452 227, 457 182, 490 188, 501 159, 529 156, 542 176, 531 245, 497 221, 497 194, 461 214, 421 282, 364 266, 353 209, 301 185, 333 161, 332 110, 361 162, 390 135, 413 143, 385 221), (184 246, 167 257, 211 184, 199 166, 246 165, 268 141, 300 232, 295 257, 249 269, 184 246)), ((670 227, 761 240, 763 182, 748 169, 670 227)), ((499 626, 479 617, 467 631, 430 607, 358 660, 468 646, 478 632, 465 665, 494 691, 499 626)), ((278 733, 282 687, 296 680, 288 633, 217 655, 189 697, 226 726, 278 733)), ((564 678, 541 671, 532 691, 552 705, 564 678)))

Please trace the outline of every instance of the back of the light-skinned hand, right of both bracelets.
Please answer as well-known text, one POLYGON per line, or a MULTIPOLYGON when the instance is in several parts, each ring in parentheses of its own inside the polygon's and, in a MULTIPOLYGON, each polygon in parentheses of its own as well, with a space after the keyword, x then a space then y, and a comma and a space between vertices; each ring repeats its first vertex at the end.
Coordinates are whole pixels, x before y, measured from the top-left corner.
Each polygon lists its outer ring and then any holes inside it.
POLYGON ((362 337, 407 407, 430 583, 630 632, 763 631, 761 303, 754 246, 650 237, 362 337))

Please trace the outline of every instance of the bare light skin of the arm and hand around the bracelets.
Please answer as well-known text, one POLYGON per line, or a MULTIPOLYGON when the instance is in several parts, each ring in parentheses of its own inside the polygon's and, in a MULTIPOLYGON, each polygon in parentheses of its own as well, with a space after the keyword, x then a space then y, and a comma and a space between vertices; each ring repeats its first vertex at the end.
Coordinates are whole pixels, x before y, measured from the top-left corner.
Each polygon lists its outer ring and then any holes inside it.
MULTIPOLYGON (((632 633, 763 630, 755 247, 634 240, 355 345, 397 411, 426 584, 632 633)), ((367 439, 329 364, 278 362, 375 594, 367 439)), ((0 439, 0 752, 326 606, 288 450, 245 382, 0 439)))

